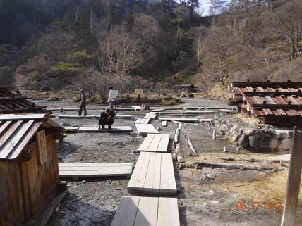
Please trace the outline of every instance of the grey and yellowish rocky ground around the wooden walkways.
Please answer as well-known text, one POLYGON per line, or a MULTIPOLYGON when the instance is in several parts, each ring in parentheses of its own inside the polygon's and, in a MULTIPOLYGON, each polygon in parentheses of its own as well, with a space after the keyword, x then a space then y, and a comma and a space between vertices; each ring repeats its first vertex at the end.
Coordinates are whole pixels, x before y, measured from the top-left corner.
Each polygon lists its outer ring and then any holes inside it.
MULTIPOLYGON (((227 106, 227 103, 221 101, 203 99, 183 99, 183 101, 186 102, 184 106, 227 106)), ((76 103, 71 102, 70 99, 39 102, 49 108, 76 107, 76 103)), ((75 113, 64 112, 64 114, 75 113)), ((97 111, 89 113, 96 114, 97 111)), ((116 120, 116 125, 130 125, 133 127, 133 132, 67 134, 64 143, 59 146, 59 161, 61 163, 131 162, 135 164, 138 158, 135 150, 143 138, 137 137, 134 122, 136 118, 143 117, 143 112, 123 111, 118 114, 133 116, 129 120, 116 120)), ((215 115, 198 117, 215 118, 215 115)), ((54 118, 54 120, 69 125, 97 125, 97 120, 93 119, 54 118)), ((152 124, 160 127, 158 120, 154 120, 152 124)), ((168 132, 171 137, 174 136, 175 129, 174 123, 162 127, 163 132, 168 132)), ((186 123, 181 130, 181 137, 181 150, 185 162, 182 165, 175 163, 181 225, 280 225, 282 213, 278 205, 284 201, 286 191, 286 164, 282 166, 280 163, 246 161, 250 158, 274 158, 277 156, 276 153, 257 153, 245 149, 237 153, 237 147, 229 144, 224 136, 217 135, 217 140, 212 140, 212 127, 209 128, 206 124, 186 123), (198 156, 188 156, 185 136, 191 137, 198 156), (273 172, 194 167, 196 161, 230 162, 226 159, 233 159, 231 162, 246 165, 270 165, 285 170, 273 172)), ((172 145, 169 149, 174 151, 172 145)), ((281 154, 286 152, 279 152, 278 156, 281 154)), ((61 202, 48 226, 111 225, 121 196, 128 195, 126 178, 85 179, 78 182, 69 181, 68 184, 69 195, 61 202)), ((302 192, 300 198, 302 200, 302 192)), ((302 225, 302 201, 298 203, 296 225, 302 225)))

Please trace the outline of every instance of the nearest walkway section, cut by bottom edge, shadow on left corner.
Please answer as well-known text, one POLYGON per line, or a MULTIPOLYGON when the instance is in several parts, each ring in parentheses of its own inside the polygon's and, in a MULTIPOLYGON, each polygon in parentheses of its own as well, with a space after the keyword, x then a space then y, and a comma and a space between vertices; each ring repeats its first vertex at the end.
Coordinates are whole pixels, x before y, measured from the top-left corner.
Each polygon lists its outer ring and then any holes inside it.
POLYGON ((177 199, 122 196, 111 226, 180 226, 177 199))

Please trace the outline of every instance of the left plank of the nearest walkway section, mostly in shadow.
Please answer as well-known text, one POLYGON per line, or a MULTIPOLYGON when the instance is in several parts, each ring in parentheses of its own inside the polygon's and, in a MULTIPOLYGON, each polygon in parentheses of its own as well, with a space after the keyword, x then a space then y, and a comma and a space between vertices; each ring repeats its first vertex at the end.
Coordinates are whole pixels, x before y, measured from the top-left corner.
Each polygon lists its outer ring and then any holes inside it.
POLYGON ((111 222, 111 226, 133 226, 139 201, 139 196, 123 196, 111 222))

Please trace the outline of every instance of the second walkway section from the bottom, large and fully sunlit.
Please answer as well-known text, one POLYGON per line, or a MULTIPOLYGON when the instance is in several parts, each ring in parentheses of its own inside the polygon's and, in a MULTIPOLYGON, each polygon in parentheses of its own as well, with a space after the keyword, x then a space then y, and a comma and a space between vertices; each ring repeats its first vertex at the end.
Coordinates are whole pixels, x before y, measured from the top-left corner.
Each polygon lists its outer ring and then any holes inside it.
POLYGON ((176 194, 171 153, 141 152, 128 183, 132 194, 176 194))

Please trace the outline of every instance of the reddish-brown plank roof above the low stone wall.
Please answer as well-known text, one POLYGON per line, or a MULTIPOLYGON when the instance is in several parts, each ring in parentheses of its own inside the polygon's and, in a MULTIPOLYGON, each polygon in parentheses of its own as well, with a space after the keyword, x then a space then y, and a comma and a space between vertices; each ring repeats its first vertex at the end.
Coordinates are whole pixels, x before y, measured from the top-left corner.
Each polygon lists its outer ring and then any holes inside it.
POLYGON ((233 82, 230 105, 271 125, 302 125, 302 82, 233 82))

